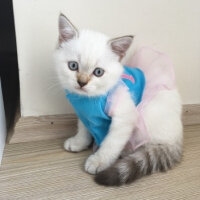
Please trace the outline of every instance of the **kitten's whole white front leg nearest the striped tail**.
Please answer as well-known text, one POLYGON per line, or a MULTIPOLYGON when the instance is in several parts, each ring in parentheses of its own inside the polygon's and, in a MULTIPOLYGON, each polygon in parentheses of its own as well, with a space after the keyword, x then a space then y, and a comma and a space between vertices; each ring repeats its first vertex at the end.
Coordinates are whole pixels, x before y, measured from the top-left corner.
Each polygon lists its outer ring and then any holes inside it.
POLYGON ((130 139, 137 121, 137 110, 128 91, 120 96, 120 104, 112 114, 110 131, 97 152, 89 156, 85 170, 96 174, 110 167, 120 156, 121 151, 130 139))

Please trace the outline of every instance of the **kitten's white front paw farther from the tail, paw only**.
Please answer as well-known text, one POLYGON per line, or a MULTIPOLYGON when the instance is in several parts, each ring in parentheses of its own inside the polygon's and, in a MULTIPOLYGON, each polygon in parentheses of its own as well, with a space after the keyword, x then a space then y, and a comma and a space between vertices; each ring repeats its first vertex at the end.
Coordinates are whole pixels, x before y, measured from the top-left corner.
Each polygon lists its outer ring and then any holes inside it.
POLYGON ((80 152, 87 149, 88 145, 81 144, 81 141, 76 137, 71 137, 64 142, 64 148, 70 152, 80 152))

